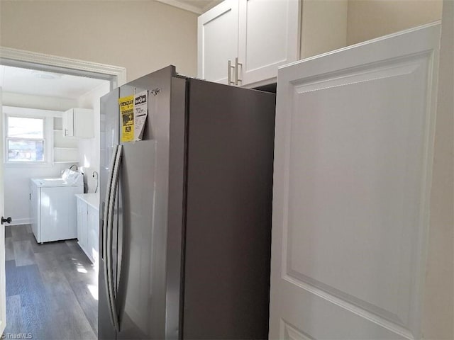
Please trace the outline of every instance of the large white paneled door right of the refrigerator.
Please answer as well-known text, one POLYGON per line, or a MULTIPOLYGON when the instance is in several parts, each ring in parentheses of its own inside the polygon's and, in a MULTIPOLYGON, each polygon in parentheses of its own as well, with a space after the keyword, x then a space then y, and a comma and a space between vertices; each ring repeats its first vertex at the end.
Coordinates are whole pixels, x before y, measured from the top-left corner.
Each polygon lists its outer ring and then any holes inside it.
POLYGON ((421 339, 439 31, 279 69, 270 339, 421 339))

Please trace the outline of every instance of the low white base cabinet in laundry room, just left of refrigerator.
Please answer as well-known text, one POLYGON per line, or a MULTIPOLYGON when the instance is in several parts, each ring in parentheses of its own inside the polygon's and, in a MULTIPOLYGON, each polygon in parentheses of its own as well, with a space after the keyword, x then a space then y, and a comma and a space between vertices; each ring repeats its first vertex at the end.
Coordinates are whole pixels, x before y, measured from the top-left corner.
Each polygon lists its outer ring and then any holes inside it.
POLYGON ((99 263, 99 210, 79 196, 77 196, 77 239, 90 261, 94 264, 99 263))

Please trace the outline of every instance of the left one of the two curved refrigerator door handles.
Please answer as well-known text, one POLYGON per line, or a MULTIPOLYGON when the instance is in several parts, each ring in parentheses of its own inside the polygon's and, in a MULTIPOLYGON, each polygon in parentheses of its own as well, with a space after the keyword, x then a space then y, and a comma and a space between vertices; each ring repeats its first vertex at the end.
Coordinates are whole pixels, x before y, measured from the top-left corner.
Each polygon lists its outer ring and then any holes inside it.
MULTIPOLYGON (((104 204, 104 218, 103 218, 103 224, 102 224, 102 258, 104 259, 103 261, 103 268, 104 268, 104 282, 106 283, 106 293, 107 293, 107 305, 109 306, 109 311, 110 314, 112 313, 112 308, 111 308, 111 292, 109 290, 109 269, 110 269, 110 264, 107 263, 107 229, 109 229, 109 224, 111 220, 109 219, 109 207, 110 207, 110 200, 111 200, 111 187, 112 187, 112 176, 114 175, 114 167, 116 163, 116 155, 118 152, 118 145, 114 147, 114 150, 112 151, 111 155, 111 162, 109 164, 109 176, 107 179, 107 188, 106 188, 106 198, 105 198, 105 204, 104 204)), ((113 320, 114 317, 111 314, 111 319, 113 320)), ((112 321, 112 324, 114 322, 112 321)))

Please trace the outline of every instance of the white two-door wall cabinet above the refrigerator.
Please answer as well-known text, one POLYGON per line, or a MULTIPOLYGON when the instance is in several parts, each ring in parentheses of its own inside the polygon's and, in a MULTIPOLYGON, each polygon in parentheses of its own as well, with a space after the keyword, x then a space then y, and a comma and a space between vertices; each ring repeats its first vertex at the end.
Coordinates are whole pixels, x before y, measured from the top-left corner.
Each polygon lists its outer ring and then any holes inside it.
POLYGON ((260 86, 299 59, 300 0, 226 0, 199 16, 198 77, 260 86))

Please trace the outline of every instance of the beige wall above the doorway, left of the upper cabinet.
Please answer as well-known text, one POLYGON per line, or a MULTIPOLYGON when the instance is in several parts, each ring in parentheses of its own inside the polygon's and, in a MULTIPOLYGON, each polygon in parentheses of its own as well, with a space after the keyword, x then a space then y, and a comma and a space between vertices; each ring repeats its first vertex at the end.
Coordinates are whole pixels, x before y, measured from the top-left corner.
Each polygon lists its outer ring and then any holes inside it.
POLYGON ((197 15, 155 1, 0 1, 0 45, 126 67, 128 81, 175 64, 196 75, 197 15))

